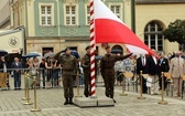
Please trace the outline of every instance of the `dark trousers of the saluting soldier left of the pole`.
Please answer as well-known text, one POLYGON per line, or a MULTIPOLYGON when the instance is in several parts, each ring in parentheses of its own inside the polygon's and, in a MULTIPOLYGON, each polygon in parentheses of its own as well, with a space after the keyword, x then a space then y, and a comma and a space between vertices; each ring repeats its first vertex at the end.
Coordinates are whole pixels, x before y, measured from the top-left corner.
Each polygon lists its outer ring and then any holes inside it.
POLYGON ((64 86, 64 97, 65 98, 73 98, 74 91, 73 91, 73 75, 63 75, 63 86, 64 86))

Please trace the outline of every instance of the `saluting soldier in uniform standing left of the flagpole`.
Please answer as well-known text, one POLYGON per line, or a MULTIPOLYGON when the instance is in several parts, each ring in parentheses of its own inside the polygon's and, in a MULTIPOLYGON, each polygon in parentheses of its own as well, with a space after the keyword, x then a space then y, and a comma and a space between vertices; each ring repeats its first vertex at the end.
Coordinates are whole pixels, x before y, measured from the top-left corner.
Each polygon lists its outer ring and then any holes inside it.
MULTIPOLYGON (((61 54, 61 52, 58 52, 55 57, 57 57, 58 54, 61 54)), ((70 55, 69 48, 65 49, 65 55, 62 55, 59 59, 63 68, 64 97, 66 99, 64 105, 73 104, 73 77, 77 74, 77 60, 75 56, 70 55)))

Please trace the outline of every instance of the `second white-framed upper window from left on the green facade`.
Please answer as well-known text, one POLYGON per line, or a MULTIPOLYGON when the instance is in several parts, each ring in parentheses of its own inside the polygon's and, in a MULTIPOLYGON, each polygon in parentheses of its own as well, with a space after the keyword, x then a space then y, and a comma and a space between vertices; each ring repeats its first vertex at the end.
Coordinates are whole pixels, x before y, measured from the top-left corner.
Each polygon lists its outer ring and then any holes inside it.
POLYGON ((75 25, 76 24, 76 7, 66 6, 66 24, 75 25))

